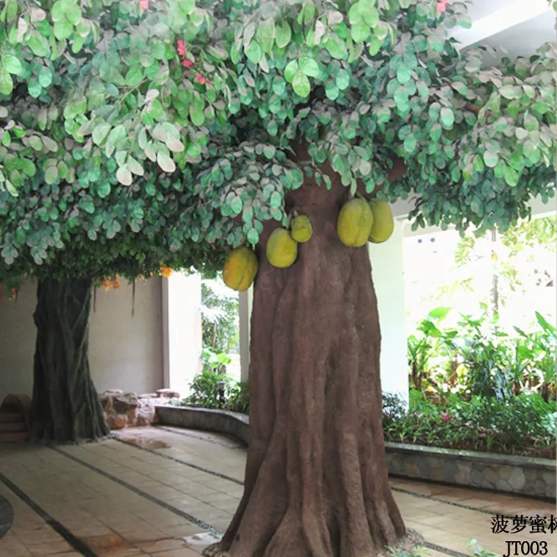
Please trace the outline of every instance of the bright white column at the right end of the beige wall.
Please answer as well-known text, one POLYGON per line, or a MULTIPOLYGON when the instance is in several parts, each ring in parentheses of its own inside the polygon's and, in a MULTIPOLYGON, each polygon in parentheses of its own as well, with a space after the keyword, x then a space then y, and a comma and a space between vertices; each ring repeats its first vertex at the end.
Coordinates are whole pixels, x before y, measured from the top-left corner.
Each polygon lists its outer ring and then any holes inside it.
POLYGON ((173 272, 162 284, 164 386, 189 394, 201 372, 201 275, 173 272))

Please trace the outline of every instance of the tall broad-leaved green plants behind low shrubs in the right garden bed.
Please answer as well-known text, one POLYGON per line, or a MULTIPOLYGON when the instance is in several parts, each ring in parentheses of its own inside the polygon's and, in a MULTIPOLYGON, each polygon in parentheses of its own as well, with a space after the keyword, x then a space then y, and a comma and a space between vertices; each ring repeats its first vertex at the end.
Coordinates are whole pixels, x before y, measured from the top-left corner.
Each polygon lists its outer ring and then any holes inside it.
POLYGON ((458 326, 441 327, 450 308, 430 312, 408 338, 410 384, 432 400, 441 393, 457 393, 509 400, 512 395, 537 393, 546 402, 555 400, 556 327, 535 312, 537 327, 515 336, 497 329, 485 307, 474 319, 461 315, 458 326))

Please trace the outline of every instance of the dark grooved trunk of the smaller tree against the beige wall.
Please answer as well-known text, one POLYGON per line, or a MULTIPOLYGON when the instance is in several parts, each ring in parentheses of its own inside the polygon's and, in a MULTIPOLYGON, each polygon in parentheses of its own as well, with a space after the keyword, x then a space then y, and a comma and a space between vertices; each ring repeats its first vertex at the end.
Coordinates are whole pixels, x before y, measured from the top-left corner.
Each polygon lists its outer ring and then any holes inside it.
POLYGON ((109 434, 88 361, 89 278, 39 281, 33 366, 33 437, 60 443, 109 434))

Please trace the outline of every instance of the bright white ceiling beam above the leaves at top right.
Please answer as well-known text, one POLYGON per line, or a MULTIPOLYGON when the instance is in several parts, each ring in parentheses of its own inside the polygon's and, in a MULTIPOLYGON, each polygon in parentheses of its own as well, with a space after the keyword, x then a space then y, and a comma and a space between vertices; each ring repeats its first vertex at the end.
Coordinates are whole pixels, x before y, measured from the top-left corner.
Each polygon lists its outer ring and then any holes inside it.
POLYGON ((471 29, 454 29, 451 36, 460 42, 462 49, 544 13, 548 13, 548 17, 555 17, 555 12, 547 0, 515 0, 485 17, 476 19, 472 22, 471 29))

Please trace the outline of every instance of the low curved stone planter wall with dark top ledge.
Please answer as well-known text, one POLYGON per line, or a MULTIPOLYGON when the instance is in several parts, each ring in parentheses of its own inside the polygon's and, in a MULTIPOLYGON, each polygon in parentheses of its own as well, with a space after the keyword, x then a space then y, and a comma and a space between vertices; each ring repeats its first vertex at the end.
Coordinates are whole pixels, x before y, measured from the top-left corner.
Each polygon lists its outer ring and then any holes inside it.
MULTIPOLYGON (((249 443, 249 416, 227 410, 157 406, 157 423, 225 433, 249 443)), ((556 462, 471 450, 385 443, 389 474, 556 500, 556 462)))

